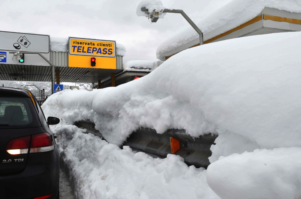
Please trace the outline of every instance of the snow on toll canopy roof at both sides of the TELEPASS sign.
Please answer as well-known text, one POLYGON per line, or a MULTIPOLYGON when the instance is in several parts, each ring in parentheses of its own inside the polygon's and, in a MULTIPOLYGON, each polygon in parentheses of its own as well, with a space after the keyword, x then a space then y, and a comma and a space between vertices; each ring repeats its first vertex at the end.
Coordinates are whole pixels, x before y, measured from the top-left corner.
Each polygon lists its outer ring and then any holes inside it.
MULTIPOLYGON (((66 37, 50 37, 50 51, 68 52, 68 38, 66 37)), ((116 43, 116 55, 125 56, 126 47, 120 43, 116 43)))

